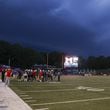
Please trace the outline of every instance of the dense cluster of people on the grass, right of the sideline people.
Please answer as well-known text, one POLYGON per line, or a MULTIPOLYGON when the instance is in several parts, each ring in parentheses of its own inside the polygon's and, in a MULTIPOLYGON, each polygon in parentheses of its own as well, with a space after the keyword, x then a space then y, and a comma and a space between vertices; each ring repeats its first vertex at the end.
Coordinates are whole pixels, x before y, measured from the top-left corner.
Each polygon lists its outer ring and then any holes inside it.
POLYGON ((19 73, 17 78, 23 81, 54 81, 56 78, 60 81, 60 71, 55 71, 53 69, 26 69, 24 74, 19 73))

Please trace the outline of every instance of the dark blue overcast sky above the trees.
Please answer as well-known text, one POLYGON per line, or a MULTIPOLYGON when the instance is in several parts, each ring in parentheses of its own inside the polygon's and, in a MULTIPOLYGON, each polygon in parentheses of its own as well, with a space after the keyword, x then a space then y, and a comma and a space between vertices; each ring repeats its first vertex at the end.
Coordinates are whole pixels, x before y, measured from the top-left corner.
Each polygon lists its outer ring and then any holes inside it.
POLYGON ((0 40, 108 56, 110 0, 0 0, 0 40))

